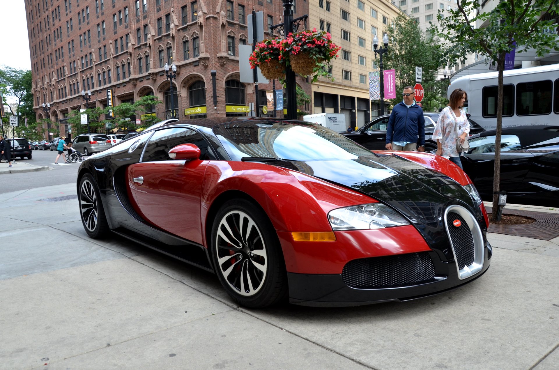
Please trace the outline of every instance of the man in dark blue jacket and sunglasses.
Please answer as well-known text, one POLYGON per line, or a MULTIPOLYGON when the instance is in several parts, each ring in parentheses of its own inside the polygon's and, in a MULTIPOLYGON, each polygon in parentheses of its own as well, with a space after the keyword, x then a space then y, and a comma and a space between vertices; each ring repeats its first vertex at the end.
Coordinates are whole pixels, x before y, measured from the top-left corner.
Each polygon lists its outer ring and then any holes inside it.
POLYGON ((386 149, 425 151, 425 118, 423 109, 415 103, 414 88, 404 88, 404 100, 394 106, 386 127, 386 149))

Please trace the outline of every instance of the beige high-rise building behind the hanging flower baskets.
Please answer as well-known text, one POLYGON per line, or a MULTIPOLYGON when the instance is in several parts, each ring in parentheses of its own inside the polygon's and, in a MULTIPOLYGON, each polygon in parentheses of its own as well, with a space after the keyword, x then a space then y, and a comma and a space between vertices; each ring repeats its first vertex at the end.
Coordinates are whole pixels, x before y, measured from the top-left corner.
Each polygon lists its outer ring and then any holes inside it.
POLYGON ((335 80, 320 78, 311 85, 312 113, 344 113, 353 127, 378 115, 380 105, 369 101, 368 74, 378 70, 372 41, 375 35, 382 40, 382 32, 399 13, 385 0, 309 0, 310 29, 330 32, 342 46, 329 69, 335 80))

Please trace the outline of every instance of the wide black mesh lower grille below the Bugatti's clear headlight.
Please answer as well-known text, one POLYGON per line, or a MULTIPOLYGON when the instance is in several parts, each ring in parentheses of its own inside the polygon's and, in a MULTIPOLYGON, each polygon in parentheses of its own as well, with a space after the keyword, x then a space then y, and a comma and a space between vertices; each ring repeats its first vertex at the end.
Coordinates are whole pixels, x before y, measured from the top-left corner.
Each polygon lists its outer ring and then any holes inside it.
POLYGON ((428 252, 354 259, 345 264, 342 279, 361 289, 396 288, 435 281, 428 252))

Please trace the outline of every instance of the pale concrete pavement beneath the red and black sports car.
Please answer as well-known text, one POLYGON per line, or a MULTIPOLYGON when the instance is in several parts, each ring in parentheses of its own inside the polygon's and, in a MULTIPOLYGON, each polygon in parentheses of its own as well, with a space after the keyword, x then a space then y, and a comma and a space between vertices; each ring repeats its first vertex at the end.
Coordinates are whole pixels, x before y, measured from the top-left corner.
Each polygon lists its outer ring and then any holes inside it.
POLYGON ((417 301, 247 310, 211 273, 89 239, 76 199, 41 201, 65 195, 0 195, 0 369, 559 368, 557 239, 489 234, 484 276, 417 301))

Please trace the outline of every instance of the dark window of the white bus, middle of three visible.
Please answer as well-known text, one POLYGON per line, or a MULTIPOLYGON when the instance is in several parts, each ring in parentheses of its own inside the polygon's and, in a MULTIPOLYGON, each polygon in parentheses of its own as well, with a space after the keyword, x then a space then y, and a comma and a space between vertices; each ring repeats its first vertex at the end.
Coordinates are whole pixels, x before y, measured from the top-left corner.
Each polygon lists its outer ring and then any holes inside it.
POLYGON ((551 113, 551 80, 517 83, 517 115, 536 116, 551 113))

